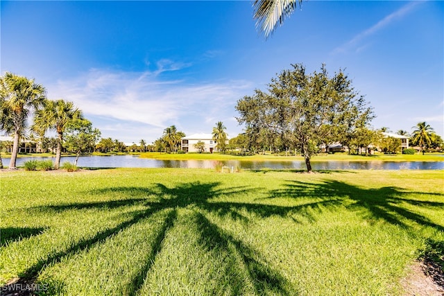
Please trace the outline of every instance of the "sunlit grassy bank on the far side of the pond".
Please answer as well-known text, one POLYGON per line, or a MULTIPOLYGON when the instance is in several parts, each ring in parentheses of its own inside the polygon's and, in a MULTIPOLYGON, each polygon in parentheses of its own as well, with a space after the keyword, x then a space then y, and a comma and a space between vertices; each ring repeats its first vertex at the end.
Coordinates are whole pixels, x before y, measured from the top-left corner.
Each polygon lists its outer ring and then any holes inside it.
MULTIPOLYGON (((303 161, 304 158, 301 156, 284 156, 284 155, 248 155, 248 156, 237 156, 228 155, 221 153, 187 153, 187 154, 176 154, 176 153, 141 153, 142 158, 152 158, 152 159, 172 159, 172 160, 188 160, 188 159, 210 159, 210 160, 246 160, 253 162, 260 161, 293 161, 299 160, 303 161)), ((385 162, 444 162, 444 153, 427 153, 426 155, 348 155, 347 153, 334 153, 334 154, 321 154, 315 155, 311 158, 311 162, 325 162, 325 161, 344 161, 344 162, 371 162, 371 161, 385 161, 385 162)))

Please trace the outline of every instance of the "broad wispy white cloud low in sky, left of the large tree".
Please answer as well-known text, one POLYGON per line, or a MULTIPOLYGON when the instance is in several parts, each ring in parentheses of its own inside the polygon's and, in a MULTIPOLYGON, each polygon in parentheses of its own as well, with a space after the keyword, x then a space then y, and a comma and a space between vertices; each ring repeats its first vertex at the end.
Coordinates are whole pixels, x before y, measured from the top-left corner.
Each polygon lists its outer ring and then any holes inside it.
POLYGON ((50 98, 74 102, 85 116, 106 119, 106 125, 98 127, 117 133, 140 123, 157 132, 171 124, 196 130, 208 123, 211 128, 214 120, 233 116, 237 100, 252 88, 241 80, 188 85, 182 80, 160 80, 157 74, 92 69, 46 89, 50 98))

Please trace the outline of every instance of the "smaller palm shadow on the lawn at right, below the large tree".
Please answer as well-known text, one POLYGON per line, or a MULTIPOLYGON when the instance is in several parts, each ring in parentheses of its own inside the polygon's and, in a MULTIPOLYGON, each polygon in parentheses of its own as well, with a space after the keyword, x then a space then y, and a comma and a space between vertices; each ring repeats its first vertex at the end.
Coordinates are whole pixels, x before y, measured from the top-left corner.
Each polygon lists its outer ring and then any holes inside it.
MULTIPOLYGON (((409 206, 418 208, 443 209, 444 202, 430 202, 408 198, 408 195, 415 193, 418 192, 407 191, 391 186, 363 189, 345 182, 331 180, 318 184, 287 181, 287 184, 284 184, 284 189, 271 191, 269 198, 332 198, 332 196, 336 196, 350 209, 364 209, 364 218, 368 220, 381 219, 393 225, 400 225, 406 228, 411 228, 410 224, 413 222, 444 231, 443 225, 438 225, 418 212, 404 207, 404 204, 408 204, 409 206), (352 201, 351 204, 350 201, 352 201)), ((444 196, 443 193, 425 194, 444 196)))

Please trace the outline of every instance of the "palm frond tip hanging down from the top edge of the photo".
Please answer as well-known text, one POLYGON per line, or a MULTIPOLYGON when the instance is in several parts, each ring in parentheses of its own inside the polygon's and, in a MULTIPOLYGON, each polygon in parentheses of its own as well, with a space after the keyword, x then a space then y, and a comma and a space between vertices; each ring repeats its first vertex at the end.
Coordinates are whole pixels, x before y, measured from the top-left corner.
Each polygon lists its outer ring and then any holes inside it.
POLYGON ((289 17, 299 6, 302 0, 255 0, 253 3, 254 18, 257 19, 256 27, 259 27, 268 37, 278 24, 282 25, 284 19, 289 17))

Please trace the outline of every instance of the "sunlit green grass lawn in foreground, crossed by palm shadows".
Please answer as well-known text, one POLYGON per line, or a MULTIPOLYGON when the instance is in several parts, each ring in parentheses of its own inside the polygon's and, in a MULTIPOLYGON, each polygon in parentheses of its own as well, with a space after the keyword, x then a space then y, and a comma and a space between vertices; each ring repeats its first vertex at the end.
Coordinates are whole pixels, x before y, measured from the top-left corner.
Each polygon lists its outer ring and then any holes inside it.
POLYGON ((402 295, 444 171, 0 171, 0 283, 48 295, 402 295))

